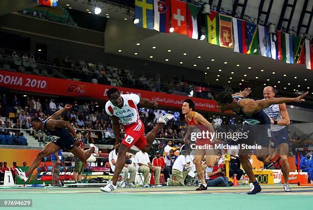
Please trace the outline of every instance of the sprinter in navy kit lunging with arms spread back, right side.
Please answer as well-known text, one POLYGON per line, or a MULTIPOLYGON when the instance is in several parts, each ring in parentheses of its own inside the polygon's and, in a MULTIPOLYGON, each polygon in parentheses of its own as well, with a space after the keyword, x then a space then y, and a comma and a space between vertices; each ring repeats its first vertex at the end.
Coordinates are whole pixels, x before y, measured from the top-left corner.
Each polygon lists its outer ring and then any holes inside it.
MULTIPOLYGON (((271 137, 271 120, 263 109, 270 107, 272 104, 280 104, 287 102, 303 102, 304 97, 308 92, 302 94, 297 98, 272 98, 265 100, 253 100, 245 98, 251 93, 251 89, 247 88, 240 93, 231 95, 229 92, 221 92, 216 97, 217 107, 221 112, 231 110, 234 114, 244 119, 242 132, 249 132, 248 138, 239 140, 240 144, 252 145, 254 142, 262 146, 262 149, 256 151, 258 160, 264 161, 268 156, 269 140, 271 137), (257 125, 257 126, 256 126, 257 125)), ((252 165, 248 159, 250 150, 239 150, 239 158, 242 167, 247 173, 249 179, 253 182, 253 188, 248 194, 257 194, 261 192, 261 186, 257 182, 253 171, 252 165)))

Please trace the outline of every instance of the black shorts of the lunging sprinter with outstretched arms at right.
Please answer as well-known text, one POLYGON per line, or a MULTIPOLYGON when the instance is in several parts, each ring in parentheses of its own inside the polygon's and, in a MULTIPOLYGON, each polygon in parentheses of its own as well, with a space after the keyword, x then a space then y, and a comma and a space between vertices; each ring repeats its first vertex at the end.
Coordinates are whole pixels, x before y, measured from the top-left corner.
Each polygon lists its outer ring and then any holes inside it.
POLYGON ((243 124, 242 133, 247 133, 240 138, 238 143, 248 145, 261 145, 262 148, 268 148, 271 138, 271 124, 243 124))

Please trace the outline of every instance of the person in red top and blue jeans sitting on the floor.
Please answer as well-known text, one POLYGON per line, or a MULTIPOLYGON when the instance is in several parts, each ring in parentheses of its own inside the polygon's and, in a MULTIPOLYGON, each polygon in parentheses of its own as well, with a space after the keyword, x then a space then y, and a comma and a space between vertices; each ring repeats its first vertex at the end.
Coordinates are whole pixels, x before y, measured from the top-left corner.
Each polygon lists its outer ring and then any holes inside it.
MULTIPOLYGON (((225 176, 225 168, 218 164, 219 158, 216 157, 213 167, 207 167, 206 179, 208 186, 230 186, 228 177, 225 176)), ((232 184, 231 184, 232 185, 232 184)))

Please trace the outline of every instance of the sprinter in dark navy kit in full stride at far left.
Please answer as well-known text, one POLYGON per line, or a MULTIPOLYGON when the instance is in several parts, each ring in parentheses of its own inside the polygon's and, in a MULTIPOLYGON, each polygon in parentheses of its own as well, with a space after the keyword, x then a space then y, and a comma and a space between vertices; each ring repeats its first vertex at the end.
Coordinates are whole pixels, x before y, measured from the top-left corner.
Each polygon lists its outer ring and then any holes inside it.
POLYGON ((55 112, 43 122, 39 118, 33 118, 31 120, 33 129, 35 131, 43 131, 50 137, 51 142, 44 146, 43 150, 39 152, 26 173, 20 169, 16 170, 20 179, 26 182, 28 177, 31 176, 33 171, 39 166, 43 157, 51 155, 60 149, 70 151, 83 162, 85 162, 93 152, 98 153, 99 150, 94 144, 90 144, 91 148, 89 150, 83 151, 80 149, 79 141, 72 125, 63 120, 56 120, 57 116, 71 108, 72 106, 70 104, 66 104, 63 109, 55 112))

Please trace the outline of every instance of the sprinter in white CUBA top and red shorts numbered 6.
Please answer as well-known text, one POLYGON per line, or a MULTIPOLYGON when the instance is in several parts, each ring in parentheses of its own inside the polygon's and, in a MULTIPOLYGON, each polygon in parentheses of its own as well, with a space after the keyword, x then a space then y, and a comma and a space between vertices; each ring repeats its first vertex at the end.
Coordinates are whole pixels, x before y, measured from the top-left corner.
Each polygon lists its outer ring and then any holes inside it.
POLYGON ((147 98, 141 98, 136 94, 120 94, 118 89, 111 88, 107 92, 109 101, 105 104, 105 111, 111 116, 113 122, 113 131, 116 141, 116 151, 118 151, 118 158, 115 165, 114 175, 112 183, 109 183, 105 187, 101 187, 100 190, 105 193, 114 191, 117 188, 118 177, 125 165, 126 152, 135 145, 143 152, 148 152, 151 148, 152 142, 157 137, 161 128, 174 116, 166 114, 159 118, 157 126, 144 136, 145 127, 141 121, 137 109, 138 105, 152 106, 157 108, 158 102, 151 101, 147 98), (123 129, 126 133, 125 138, 120 144, 120 124, 119 119, 123 124, 123 129), (119 149, 118 149, 119 148, 119 149))

